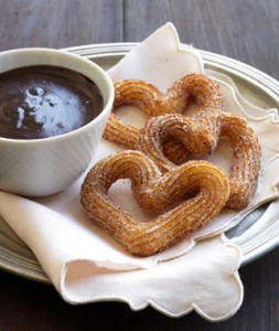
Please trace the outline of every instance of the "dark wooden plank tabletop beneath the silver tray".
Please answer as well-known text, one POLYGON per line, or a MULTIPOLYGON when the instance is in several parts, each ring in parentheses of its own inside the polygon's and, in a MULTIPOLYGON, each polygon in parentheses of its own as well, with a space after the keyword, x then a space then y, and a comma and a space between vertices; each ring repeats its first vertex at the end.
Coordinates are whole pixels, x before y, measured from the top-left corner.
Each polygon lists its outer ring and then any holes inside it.
MULTIPOLYGON (((181 41, 279 78, 278 0, 0 0, 0 51, 141 41, 171 21, 181 41)), ((229 320, 170 319, 125 303, 73 307, 52 286, 0 270, 0 330, 279 330, 279 248, 243 267, 244 303, 229 320)))

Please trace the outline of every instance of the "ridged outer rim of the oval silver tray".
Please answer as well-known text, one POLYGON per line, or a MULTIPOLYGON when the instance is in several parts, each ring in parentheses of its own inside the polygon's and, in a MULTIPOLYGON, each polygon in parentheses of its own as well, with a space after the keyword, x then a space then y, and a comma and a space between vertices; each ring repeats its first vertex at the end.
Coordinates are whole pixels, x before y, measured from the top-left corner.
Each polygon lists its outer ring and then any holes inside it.
MULTIPOLYGON (((112 56, 124 56, 133 47, 136 47, 139 43, 100 43, 100 44, 87 44, 79 46, 72 46, 62 49, 62 51, 75 53, 77 55, 95 60, 101 57, 112 57, 112 56), (93 53, 94 51, 94 53, 93 53)), ((181 44, 182 47, 189 47, 186 44, 181 44)), ((238 60, 234 60, 232 57, 227 57, 225 55, 212 53, 208 51, 197 50, 205 62, 206 65, 212 65, 217 67, 219 71, 227 71, 235 76, 238 76, 242 79, 249 81, 250 84, 255 85, 255 81, 270 98, 272 98, 275 105, 279 108, 279 81, 275 79, 270 75, 261 72, 260 70, 253 67, 246 63, 243 63, 238 60), (253 78, 250 78, 253 77, 253 78)), ((257 86, 257 87, 259 87, 257 86)), ((253 260, 259 258, 260 256, 267 254, 276 246, 279 245, 279 236, 271 237, 270 241, 264 243, 259 247, 256 247, 253 252, 248 252, 244 254, 242 266, 251 263, 253 260)), ((9 250, 6 247, 0 245, 0 254, 1 252, 9 250)), ((36 260, 30 259, 29 265, 30 268, 25 268, 18 264, 17 266, 12 265, 12 255, 14 254, 12 250, 11 258, 4 258, 2 255, 0 256, 0 268, 4 269, 11 274, 15 274, 18 276, 29 278, 31 280, 41 281, 45 284, 50 284, 50 279, 44 274, 43 270, 40 270, 40 264, 36 260)), ((18 255, 19 259, 20 255, 18 255)), ((24 257, 24 259, 28 259, 24 257)))

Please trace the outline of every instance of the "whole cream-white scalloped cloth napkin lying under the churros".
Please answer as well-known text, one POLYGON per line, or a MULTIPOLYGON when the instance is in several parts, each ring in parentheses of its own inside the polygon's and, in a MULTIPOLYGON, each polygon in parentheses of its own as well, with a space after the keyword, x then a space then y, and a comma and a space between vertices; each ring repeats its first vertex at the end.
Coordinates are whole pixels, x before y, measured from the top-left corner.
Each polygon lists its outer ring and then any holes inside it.
MULTIPOLYGON (((176 78, 204 72, 200 53, 190 46, 182 47, 174 26, 168 23, 109 74, 112 79, 144 79, 167 90, 176 78)), ((242 252, 226 239, 224 231, 278 195, 279 174, 273 171, 279 166, 275 136, 278 118, 275 109, 262 110, 244 99, 227 76, 206 73, 221 84, 225 109, 246 117, 262 147, 264 167, 258 189, 245 211, 224 211, 208 226, 174 247, 152 257, 135 258, 86 218, 79 204, 84 177, 66 191, 44 199, 29 200, 0 192, 0 215, 34 252, 64 300, 72 303, 120 300, 135 310, 151 305, 171 317, 194 309, 212 321, 226 319, 240 307, 243 287, 237 270, 242 252)), ((142 125, 141 114, 132 118, 130 114, 129 107, 118 111, 124 120, 142 125)), ((93 164, 119 149, 101 141, 93 164)), ((227 171, 229 152, 221 146, 210 159, 227 171)), ((118 181, 109 194, 131 214, 149 218, 133 201, 129 181, 118 181)))

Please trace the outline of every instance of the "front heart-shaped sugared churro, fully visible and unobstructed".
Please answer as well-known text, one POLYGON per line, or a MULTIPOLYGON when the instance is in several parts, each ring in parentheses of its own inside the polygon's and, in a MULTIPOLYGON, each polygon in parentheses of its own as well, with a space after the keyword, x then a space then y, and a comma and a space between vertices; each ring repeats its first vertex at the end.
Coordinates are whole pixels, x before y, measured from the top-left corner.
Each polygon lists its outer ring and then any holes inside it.
POLYGON ((162 174, 151 159, 131 150, 96 163, 81 191, 88 217, 128 253, 141 257, 159 253, 205 226, 219 214, 228 196, 226 175, 210 162, 191 161, 162 174), (169 211, 150 222, 135 220, 108 197, 109 188, 118 179, 131 180, 135 197, 144 210, 169 211))

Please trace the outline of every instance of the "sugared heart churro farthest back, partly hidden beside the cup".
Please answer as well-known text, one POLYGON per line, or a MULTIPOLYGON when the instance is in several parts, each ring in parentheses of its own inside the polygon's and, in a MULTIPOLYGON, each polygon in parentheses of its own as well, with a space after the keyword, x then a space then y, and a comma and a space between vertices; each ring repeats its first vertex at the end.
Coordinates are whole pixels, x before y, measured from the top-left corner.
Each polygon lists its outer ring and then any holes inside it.
MULTIPOLYGON (((122 105, 140 108, 146 116, 163 114, 182 114, 190 102, 194 100, 201 109, 222 107, 222 95, 218 84, 201 74, 186 75, 163 94, 152 84, 142 81, 126 79, 115 83, 114 109, 122 105)), ((125 148, 135 149, 139 129, 125 125, 116 114, 111 114, 104 132, 104 138, 125 148)))

